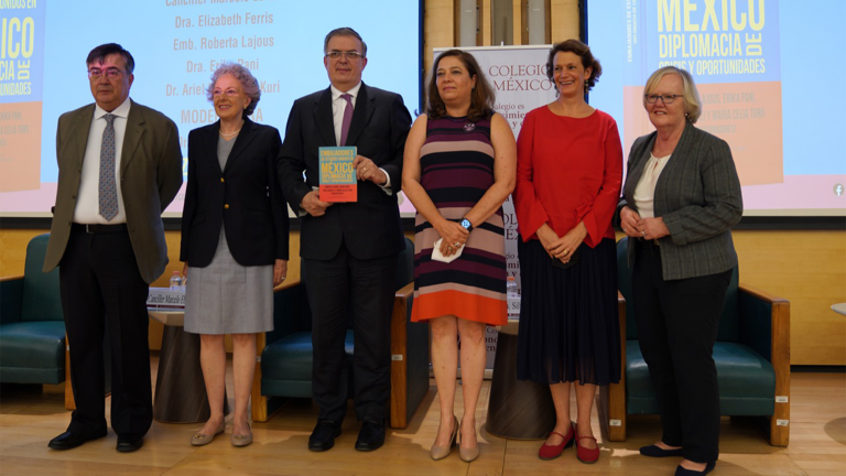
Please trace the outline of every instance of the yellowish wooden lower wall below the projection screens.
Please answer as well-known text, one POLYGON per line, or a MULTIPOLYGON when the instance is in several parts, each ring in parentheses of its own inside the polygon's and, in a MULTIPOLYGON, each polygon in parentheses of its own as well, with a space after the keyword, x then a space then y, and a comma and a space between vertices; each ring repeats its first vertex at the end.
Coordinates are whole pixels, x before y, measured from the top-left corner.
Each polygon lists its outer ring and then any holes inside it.
MULTIPOLYGON (((44 230, 0 230, 0 275, 23 273, 26 244, 44 230)), ((413 232, 406 232, 413 238, 413 232)), ((166 231, 171 263, 155 281, 166 286, 178 262, 180 232, 166 231)), ((740 281, 790 301, 792 365, 846 365, 846 316, 831 305, 846 302, 846 231, 737 230, 740 281)), ((291 232, 288 277, 300 279, 300 232, 291 232)), ((158 349, 161 324, 150 326, 158 349)))

